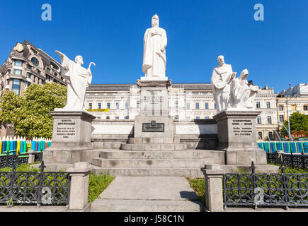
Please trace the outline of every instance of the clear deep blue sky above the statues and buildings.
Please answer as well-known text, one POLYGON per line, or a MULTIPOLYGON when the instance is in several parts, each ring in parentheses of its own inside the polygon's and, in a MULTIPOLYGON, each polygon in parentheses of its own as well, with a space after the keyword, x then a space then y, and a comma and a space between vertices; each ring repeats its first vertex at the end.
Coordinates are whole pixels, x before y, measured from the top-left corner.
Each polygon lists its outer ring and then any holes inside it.
POLYGON ((210 83, 217 57, 275 92, 307 83, 307 0, 1 1, 0 62, 28 40, 59 61, 55 50, 93 61, 92 83, 135 83, 142 74, 143 36, 159 15, 168 37, 166 75, 173 83, 210 83), (41 19, 42 4, 52 21, 41 19), (265 20, 253 18, 263 4, 265 20))

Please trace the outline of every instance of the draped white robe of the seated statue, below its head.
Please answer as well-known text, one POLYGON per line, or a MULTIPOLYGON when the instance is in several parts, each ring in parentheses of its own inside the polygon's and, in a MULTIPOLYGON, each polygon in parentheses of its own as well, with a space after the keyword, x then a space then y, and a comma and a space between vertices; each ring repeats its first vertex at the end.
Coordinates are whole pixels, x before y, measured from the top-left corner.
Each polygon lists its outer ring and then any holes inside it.
POLYGON ((231 83, 232 106, 233 108, 254 109, 254 100, 258 91, 252 91, 248 82, 235 78, 231 83))

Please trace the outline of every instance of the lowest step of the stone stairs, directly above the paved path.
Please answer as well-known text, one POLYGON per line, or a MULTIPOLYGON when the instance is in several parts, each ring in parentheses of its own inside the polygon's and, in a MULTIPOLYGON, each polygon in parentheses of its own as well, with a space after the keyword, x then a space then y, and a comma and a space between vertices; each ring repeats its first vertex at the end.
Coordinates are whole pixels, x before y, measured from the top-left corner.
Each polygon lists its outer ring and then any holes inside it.
POLYGON ((94 167, 93 174, 109 173, 123 177, 204 177, 200 168, 124 168, 124 167, 94 167))

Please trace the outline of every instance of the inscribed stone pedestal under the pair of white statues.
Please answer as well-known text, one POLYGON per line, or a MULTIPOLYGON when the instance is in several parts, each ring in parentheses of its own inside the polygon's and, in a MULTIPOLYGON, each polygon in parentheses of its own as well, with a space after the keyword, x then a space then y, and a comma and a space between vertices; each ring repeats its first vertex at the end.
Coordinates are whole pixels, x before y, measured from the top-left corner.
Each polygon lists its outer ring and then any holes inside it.
POLYGON ((222 111, 217 121, 218 150, 226 152, 226 165, 266 165, 266 152, 256 141, 257 111, 222 111))

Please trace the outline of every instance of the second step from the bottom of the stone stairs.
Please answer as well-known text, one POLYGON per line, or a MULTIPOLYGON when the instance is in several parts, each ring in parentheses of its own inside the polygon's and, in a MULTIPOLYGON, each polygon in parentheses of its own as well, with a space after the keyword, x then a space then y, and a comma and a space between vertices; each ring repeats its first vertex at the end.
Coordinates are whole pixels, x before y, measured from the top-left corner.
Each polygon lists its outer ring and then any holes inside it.
POLYGON ((92 165, 98 167, 127 167, 127 168, 201 168, 205 164, 214 163, 212 158, 200 160, 178 159, 105 159, 93 157, 92 165))

